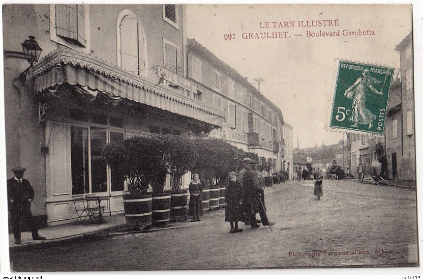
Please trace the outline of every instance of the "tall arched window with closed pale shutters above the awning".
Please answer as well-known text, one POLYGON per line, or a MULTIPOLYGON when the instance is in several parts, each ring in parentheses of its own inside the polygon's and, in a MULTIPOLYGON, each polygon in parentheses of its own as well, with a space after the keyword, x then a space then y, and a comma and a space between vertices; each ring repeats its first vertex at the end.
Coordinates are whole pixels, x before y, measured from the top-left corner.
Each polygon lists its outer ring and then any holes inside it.
POLYGON ((118 66, 134 75, 146 76, 147 55, 143 27, 129 10, 121 11, 117 21, 118 66))

